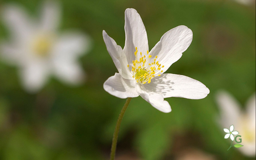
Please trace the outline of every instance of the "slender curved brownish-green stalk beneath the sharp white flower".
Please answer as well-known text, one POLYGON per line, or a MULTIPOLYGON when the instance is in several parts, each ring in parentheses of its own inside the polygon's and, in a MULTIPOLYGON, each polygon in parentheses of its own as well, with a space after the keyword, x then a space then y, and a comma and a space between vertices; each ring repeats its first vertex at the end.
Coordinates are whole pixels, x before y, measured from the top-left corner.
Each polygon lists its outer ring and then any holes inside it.
POLYGON ((113 134, 113 140, 112 140, 112 146, 111 146, 111 154, 110 154, 110 160, 114 160, 115 159, 115 155, 116 155, 116 143, 117 143, 117 138, 118 138, 118 133, 119 133, 119 128, 122 122, 122 118, 125 115, 125 111, 129 105, 129 103, 131 102, 131 98, 129 97, 126 102, 124 107, 121 110, 121 113, 119 114, 119 117, 117 119, 117 123, 116 123, 116 128, 113 134))

